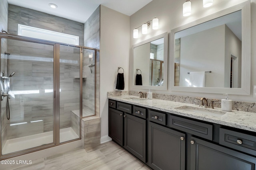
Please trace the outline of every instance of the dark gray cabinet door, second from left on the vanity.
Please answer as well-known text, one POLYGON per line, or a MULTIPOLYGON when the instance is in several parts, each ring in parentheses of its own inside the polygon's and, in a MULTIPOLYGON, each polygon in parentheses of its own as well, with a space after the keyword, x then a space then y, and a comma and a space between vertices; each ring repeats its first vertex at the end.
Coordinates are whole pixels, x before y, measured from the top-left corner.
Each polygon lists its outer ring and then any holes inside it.
POLYGON ((146 120, 124 113, 124 148, 146 162, 146 120))

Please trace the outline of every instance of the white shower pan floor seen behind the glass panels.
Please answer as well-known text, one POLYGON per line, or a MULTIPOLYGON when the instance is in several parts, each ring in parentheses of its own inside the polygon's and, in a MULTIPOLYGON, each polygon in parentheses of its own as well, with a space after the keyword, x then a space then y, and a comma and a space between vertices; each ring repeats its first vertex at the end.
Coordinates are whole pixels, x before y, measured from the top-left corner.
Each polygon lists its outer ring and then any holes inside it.
MULTIPOLYGON (((78 138, 79 136, 71 127, 60 129, 60 143, 78 138)), ((53 131, 8 139, 2 149, 2 155, 46 145, 48 143, 53 143, 53 131)))

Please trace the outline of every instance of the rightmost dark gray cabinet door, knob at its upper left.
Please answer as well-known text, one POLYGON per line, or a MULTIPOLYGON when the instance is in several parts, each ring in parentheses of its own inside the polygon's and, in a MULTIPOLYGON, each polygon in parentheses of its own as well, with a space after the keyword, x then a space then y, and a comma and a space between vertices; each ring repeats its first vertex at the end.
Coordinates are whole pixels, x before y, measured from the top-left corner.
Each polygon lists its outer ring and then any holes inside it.
POLYGON ((255 157, 195 137, 191 141, 191 170, 256 170, 255 157))

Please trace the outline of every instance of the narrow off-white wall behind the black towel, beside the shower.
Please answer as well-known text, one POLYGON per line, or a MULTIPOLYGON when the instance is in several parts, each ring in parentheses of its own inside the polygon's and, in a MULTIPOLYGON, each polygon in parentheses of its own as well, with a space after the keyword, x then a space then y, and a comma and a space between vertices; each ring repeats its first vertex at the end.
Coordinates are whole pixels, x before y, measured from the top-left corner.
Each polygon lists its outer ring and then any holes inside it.
POLYGON ((100 6, 100 117, 101 137, 108 135, 108 96, 116 90, 118 67, 124 68, 124 90, 129 78, 129 16, 100 6))

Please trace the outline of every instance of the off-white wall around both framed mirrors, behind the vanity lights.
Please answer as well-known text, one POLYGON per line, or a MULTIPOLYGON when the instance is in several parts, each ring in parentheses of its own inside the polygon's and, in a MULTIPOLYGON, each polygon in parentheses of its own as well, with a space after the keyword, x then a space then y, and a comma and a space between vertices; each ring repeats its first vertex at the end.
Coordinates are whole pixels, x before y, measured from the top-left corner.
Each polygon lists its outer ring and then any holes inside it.
MULTIPOLYGON (((190 23, 191 21, 198 20, 215 12, 224 10, 231 6, 245 2, 246 0, 214 0, 214 4, 209 8, 203 8, 202 0, 193 0, 192 3, 192 14, 188 17, 182 16, 182 4, 185 1, 178 0, 153 0, 138 12, 130 16, 130 47, 136 43, 159 35, 168 31, 169 33, 169 50, 168 50, 168 72, 170 69, 170 30, 190 23), (152 20, 154 17, 159 19, 159 29, 152 30, 152 27, 149 28, 148 34, 142 35, 141 29, 139 29, 139 38, 134 39, 132 37, 132 31, 135 27, 139 27, 144 22, 152 20)), ((251 0, 251 17, 252 17, 252 30, 256 30, 256 0, 251 0)), ((252 31, 252 47, 256 46, 256 32, 252 31)), ((252 48, 252 69, 251 69, 251 85, 256 85, 256 48, 252 48)), ((173 77, 170 77, 168 74, 168 81, 173 77)), ((230 99, 244 102, 255 102, 255 98, 252 96, 252 86, 251 86, 251 95, 250 96, 241 96, 241 95, 230 95, 230 99)), ((164 94, 174 94, 182 96, 204 96, 206 98, 223 98, 222 94, 198 94, 194 92, 178 92, 172 91, 170 89, 171 85, 168 84, 168 90, 152 90, 152 92, 164 93, 164 94)), ((130 90, 136 90, 130 88, 130 90)), ((143 91, 143 90, 142 90, 143 91)), ((146 92, 146 90, 144 90, 146 92)))

